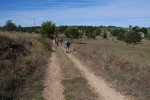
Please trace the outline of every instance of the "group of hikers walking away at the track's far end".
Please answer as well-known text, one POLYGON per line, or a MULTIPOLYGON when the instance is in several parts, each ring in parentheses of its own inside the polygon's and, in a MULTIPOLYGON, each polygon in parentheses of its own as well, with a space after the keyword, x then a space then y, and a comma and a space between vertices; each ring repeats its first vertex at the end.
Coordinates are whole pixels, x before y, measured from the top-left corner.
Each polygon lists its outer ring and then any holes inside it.
POLYGON ((70 52, 70 46, 71 46, 70 39, 66 38, 64 41, 64 39, 62 37, 54 36, 54 38, 53 38, 54 47, 57 47, 59 45, 63 46, 63 43, 64 43, 65 48, 66 48, 66 53, 69 53, 70 52))

